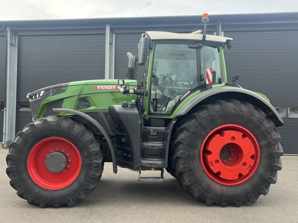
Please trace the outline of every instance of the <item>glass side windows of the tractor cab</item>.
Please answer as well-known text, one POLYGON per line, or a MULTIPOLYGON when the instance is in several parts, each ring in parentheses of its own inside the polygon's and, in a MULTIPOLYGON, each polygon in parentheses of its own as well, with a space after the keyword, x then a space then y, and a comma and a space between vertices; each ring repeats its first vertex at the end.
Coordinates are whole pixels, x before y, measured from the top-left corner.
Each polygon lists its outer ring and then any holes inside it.
POLYGON ((153 56, 150 113, 171 114, 173 109, 198 82, 212 73, 221 82, 218 47, 202 45, 199 49, 189 44, 159 43, 153 56))

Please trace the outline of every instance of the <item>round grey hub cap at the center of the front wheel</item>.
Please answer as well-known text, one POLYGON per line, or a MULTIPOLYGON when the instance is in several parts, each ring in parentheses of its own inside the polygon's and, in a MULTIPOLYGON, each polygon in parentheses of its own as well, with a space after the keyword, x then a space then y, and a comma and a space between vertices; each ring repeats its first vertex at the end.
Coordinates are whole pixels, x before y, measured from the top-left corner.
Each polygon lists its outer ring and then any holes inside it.
POLYGON ((52 173, 59 173, 67 166, 67 156, 63 152, 53 152, 46 157, 46 169, 52 173))

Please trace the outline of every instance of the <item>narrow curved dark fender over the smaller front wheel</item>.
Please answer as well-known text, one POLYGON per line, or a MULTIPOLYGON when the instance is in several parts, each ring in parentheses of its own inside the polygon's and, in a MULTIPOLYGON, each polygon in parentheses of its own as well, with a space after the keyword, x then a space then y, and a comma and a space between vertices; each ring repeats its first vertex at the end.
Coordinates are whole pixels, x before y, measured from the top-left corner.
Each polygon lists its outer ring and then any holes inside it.
POLYGON ((54 112, 67 112, 69 114, 80 115, 81 117, 83 117, 83 118, 87 119, 88 121, 90 121, 91 123, 93 123, 102 132, 103 136, 105 136, 105 139, 108 142, 108 145, 110 147, 110 151, 111 151, 111 154, 112 154, 113 172, 117 173, 116 153, 115 153, 115 150, 114 150, 112 140, 111 140, 110 136, 108 135, 107 131, 105 131, 105 129, 103 128, 102 125, 100 125, 99 122, 97 122, 94 118, 92 118, 88 114, 85 114, 83 112, 79 112, 79 111, 76 111, 76 110, 73 110, 73 109, 53 109, 53 111, 54 112))

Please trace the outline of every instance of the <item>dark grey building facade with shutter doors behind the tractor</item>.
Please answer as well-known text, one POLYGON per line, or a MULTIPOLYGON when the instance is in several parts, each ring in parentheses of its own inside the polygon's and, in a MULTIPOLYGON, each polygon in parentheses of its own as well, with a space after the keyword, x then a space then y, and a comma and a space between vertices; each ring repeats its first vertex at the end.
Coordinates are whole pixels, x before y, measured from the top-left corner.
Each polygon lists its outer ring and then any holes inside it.
MULTIPOLYGON (((224 50, 228 81, 239 73, 238 83, 242 87, 265 94, 282 115, 285 125, 278 130, 286 154, 298 154, 297 15, 215 15, 209 17, 207 26, 208 34, 224 32, 224 36, 234 39, 232 49, 224 50)), ((20 111, 16 114, 16 132, 31 122, 24 104, 28 103, 25 97, 28 92, 62 82, 104 78, 105 59, 109 58, 105 54, 110 54, 105 45, 114 45, 114 54, 110 56, 114 59, 114 73, 110 76, 125 78, 126 53, 137 54, 142 32, 189 33, 203 29, 200 20, 198 16, 180 16, 7 23, 19 39, 17 103, 20 111), (108 44, 103 29, 106 25, 115 37, 110 37, 108 44)), ((142 78, 142 67, 137 78, 142 78)), ((2 88, 0 82, 0 91, 2 88)))

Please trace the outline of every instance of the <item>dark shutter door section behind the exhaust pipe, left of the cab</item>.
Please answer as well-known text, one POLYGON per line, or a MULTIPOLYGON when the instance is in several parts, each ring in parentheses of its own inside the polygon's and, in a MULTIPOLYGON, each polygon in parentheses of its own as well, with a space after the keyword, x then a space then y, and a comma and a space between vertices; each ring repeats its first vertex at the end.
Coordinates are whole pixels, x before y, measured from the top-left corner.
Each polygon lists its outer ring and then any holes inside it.
MULTIPOLYGON (((128 67, 127 52, 131 52, 134 56, 138 54, 138 44, 142 33, 116 33, 115 34, 115 67, 114 78, 126 78, 126 69, 128 67)), ((143 67, 138 68, 138 80, 142 80, 143 67)))

